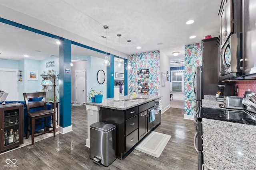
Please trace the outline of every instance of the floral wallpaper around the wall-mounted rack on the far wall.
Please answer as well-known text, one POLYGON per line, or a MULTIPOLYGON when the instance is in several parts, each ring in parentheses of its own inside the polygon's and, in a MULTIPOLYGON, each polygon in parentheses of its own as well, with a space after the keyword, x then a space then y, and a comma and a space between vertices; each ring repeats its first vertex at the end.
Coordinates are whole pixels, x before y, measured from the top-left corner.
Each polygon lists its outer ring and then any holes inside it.
MULTIPOLYGON (((144 53, 133 54, 129 56, 129 62, 132 66, 132 70, 128 70, 128 84, 134 84, 134 90, 138 94, 138 70, 149 69, 148 75, 148 86, 149 89, 147 93, 141 94, 151 94, 159 95, 160 92, 160 51, 150 51, 144 53)), ((132 92, 132 89, 129 89, 132 92)))

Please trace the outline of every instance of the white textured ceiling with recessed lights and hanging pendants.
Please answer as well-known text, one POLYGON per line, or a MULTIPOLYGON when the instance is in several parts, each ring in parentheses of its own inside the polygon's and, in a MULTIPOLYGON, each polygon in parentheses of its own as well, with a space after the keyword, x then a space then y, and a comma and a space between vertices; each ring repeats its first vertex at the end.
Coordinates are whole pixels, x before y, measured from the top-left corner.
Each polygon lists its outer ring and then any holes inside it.
MULTIPOLYGON (((220 3, 221 0, 0 0, 0 5, 7 10, 7 14, 4 14, 7 20, 13 17, 11 12, 8 13, 8 9, 12 9, 26 14, 19 18, 20 23, 27 23, 26 16, 30 16, 39 20, 29 23, 37 29, 44 29, 46 22, 68 31, 71 40, 79 35, 101 45, 106 44, 106 39, 101 37, 106 36, 103 25, 108 25, 108 47, 125 54, 129 53, 129 46, 130 54, 160 49, 170 60, 184 59, 185 45, 200 43, 206 35, 219 35, 220 3), (188 20, 195 22, 186 25, 188 20), (118 33, 122 34, 120 39, 117 37, 118 33), (190 39, 191 35, 196 35, 196 38, 190 39), (127 39, 132 41, 130 45, 127 39), (136 49, 137 46, 141 49, 136 49), (180 52, 178 57, 172 55, 174 51, 180 52)), ((6 26, 1 25, 0 28, 6 26)), ((17 50, 18 43, 23 40, 23 47, 20 45, 24 50, 22 54, 26 52, 26 48, 33 47, 32 44, 40 47, 43 42, 48 43, 44 46, 45 49, 30 48, 32 51, 42 51, 34 52, 34 55, 44 52, 48 53, 44 54, 47 56, 58 55, 58 46, 55 48, 49 43, 54 39, 24 30, 14 31, 14 28, 0 29, 0 35, 5 40, 0 43, 1 46, 8 47, 8 43, 12 43, 17 45, 17 50), (15 43, 12 42, 15 40, 15 43), (52 53, 50 49, 53 50, 52 53)), ((0 47, 0 58, 4 57, 5 49, 8 48, 0 47)))

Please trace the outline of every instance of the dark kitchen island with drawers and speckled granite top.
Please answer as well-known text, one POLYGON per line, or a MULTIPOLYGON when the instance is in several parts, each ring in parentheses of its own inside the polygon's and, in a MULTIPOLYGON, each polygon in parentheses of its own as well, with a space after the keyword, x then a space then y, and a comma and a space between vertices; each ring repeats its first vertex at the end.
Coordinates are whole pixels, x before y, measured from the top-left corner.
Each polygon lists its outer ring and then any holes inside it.
POLYGON ((120 96, 119 101, 114 98, 104 99, 102 103, 86 102, 88 115, 88 138, 86 146, 90 147, 90 125, 97 121, 116 125, 116 156, 125 158, 150 131, 161 123, 161 111, 155 112, 155 121, 150 123, 151 111, 161 96, 137 95, 128 99, 120 96))

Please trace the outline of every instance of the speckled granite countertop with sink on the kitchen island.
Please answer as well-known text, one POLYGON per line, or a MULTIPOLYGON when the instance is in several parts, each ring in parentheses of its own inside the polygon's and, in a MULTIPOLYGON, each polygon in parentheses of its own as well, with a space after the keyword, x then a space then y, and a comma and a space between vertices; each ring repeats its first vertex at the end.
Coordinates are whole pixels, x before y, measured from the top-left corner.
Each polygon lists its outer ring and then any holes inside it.
MULTIPOLYGON (((148 102, 151 102, 156 99, 160 99, 162 96, 155 96, 155 95, 136 95, 136 98, 147 98, 146 100, 142 100, 140 102, 134 101, 123 101, 128 99, 128 96, 120 96, 119 101, 114 101, 114 98, 103 99, 102 103, 92 103, 92 102, 85 102, 85 105, 90 106, 98 106, 98 107, 105 107, 109 109, 117 109, 117 110, 126 110, 130 109, 135 106, 139 106, 148 102)), ((133 97, 131 96, 130 99, 133 97)))

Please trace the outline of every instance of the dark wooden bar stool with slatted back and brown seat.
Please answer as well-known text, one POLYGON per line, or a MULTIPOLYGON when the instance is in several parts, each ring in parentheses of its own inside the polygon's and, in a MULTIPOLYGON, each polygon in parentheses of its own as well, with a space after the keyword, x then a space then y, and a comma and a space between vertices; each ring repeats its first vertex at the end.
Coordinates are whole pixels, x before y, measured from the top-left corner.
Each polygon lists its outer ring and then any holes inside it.
POLYGON ((46 110, 46 92, 35 92, 35 93, 23 93, 24 100, 26 103, 27 111, 28 111, 28 132, 26 134, 26 139, 28 139, 29 133, 31 133, 32 145, 34 145, 34 137, 39 135, 43 135, 45 133, 53 132, 53 136, 55 137, 55 113, 54 110, 46 110), (33 101, 29 101, 30 98, 33 98, 33 101), (34 107, 42 107, 42 110, 30 112, 31 108, 34 107), (46 124, 46 117, 51 116, 52 119, 52 126, 46 124), (36 119, 40 119, 44 117, 44 132, 38 133, 35 135, 35 125, 36 119), (30 124, 31 124, 31 131, 30 131, 30 124), (52 128, 48 131, 46 128, 52 128))

